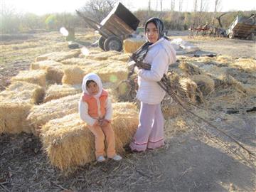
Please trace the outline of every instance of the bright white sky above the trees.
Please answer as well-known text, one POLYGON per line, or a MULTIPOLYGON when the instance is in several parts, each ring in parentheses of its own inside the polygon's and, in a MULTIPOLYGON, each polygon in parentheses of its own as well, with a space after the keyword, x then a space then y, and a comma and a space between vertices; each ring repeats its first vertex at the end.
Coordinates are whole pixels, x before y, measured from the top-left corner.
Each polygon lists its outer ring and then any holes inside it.
MULTIPOLYGON (((74 13, 75 9, 80 9, 87 0, 1 0, 1 10, 5 6, 11 7, 18 14, 30 12, 43 15, 49 13, 74 13)), ((200 0, 198 0, 200 1, 200 0)), ((207 10, 213 11, 214 0, 206 1, 207 10)), ((146 9, 149 0, 122 0, 124 6, 131 11, 137 9, 146 9)), ((171 0, 163 0, 163 9, 168 10, 171 7, 171 0)), ((159 0, 151 0, 151 9, 160 11, 159 0)), ((176 11, 178 11, 178 0, 176 0, 176 11)), ((193 0, 183 0, 182 11, 192 11, 193 0)), ((255 0, 221 0, 221 6, 218 11, 251 11, 256 10, 255 0)))

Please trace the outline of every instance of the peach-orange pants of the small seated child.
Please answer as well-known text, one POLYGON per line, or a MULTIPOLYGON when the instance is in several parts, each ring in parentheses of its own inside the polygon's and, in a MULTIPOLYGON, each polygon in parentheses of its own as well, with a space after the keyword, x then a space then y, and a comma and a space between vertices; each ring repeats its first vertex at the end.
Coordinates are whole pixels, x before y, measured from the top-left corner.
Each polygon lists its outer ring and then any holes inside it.
POLYGON ((116 155, 115 142, 114 142, 114 131, 111 124, 108 123, 105 127, 89 126, 90 131, 95 136, 95 155, 105 156, 105 139, 107 141, 107 157, 112 158, 116 155))

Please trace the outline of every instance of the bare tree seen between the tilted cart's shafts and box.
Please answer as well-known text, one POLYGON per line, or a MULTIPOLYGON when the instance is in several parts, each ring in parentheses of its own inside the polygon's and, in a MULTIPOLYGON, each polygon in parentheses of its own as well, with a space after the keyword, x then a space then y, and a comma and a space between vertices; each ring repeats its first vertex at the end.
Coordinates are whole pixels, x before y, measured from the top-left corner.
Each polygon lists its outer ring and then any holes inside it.
POLYGON ((100 22, 110 13, 117 0, 89 0, 86 1, 82 11, 90 18, 100 22))

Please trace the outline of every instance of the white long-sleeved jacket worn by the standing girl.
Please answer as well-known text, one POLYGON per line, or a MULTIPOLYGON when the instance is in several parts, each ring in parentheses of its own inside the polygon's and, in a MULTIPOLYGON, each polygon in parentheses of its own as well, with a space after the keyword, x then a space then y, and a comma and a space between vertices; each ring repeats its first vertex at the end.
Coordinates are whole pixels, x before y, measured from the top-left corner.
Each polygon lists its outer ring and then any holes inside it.
POLYGON ((157 84, 164 73, 168 72, 169 65, 176 62, 176 51, 170 41, 159 39, 149 46, 144 63, 151 64, 151 70, 140 69, 138 72, 139 90, 137 99, 141 102, 156 105, 163 99, 166 92, 157 84))

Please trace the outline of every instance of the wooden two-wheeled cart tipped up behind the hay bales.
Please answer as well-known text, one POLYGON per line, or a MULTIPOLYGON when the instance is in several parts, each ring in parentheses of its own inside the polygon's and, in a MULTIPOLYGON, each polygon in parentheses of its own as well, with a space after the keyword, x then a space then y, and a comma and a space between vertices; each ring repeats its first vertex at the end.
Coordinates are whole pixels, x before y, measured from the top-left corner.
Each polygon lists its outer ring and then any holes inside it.
POLYGON ((117 4, 101 23, 88 18, 80 11, 77 11, 77 14, 88 26, 100 33, 98 44, 105 51, 121 51, 124 39, 134 33, 139 25, 139 19, 121 3, 117 4))

